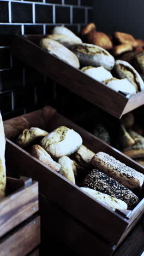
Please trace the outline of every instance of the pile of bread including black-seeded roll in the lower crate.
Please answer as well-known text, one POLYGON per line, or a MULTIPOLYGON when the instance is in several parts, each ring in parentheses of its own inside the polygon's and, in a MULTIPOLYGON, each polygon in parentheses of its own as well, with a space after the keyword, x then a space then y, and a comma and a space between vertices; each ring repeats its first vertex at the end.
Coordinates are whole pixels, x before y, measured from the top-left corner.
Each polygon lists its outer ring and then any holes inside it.
POLYGON ((142 190, 144 175, 104 152, 95 154, 69 127, 60 126, 50 133, 31 127, 16 142, 70 182, 81 181, 81 189, 106 206, 131 210, 139 203, 134 191, 142 190))

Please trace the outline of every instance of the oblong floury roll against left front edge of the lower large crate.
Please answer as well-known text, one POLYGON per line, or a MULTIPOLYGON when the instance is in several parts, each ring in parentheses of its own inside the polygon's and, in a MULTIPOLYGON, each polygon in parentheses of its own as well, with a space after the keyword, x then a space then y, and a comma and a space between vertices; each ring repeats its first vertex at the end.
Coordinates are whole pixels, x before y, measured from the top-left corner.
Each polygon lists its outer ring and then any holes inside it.
POLYGON ((48 165, 56 172, 59 172, 61 169, 61 165, 59 165, 57 162, 55 162, 51 156, 39 145, 33 145, 30 153, 37 159, 39 159, 41 162, 43 162, 45 165, 48 165))

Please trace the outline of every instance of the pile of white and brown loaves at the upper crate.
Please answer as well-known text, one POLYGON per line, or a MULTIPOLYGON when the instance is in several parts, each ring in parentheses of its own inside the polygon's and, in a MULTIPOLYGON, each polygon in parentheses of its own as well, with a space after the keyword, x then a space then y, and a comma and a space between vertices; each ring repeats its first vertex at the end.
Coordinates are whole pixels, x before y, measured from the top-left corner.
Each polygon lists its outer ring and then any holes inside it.
POLYGON ((108 36, 97 31, 93 23, 82 28, 81 38, 66 27, 56 26, 51 34, 41 39, 40 46, 112 90, 126 95, 144 90, 138 73, 144 74, 144 40, 122 32, 108 36), (134 58, 122 56, 127 51, 134 58), (115 61, 117 57, 121 60, 115 61), (129 63, 131 58, 133 63, 129 63))

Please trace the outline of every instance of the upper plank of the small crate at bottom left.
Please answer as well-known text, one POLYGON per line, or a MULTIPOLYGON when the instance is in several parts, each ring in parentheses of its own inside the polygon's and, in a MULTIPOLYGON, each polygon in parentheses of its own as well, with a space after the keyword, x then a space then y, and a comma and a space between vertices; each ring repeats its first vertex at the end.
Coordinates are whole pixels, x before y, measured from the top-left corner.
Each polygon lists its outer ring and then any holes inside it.
POLYGON ((4 197, 0 203, 0 237, 37 211, 38 182, 4 197))

